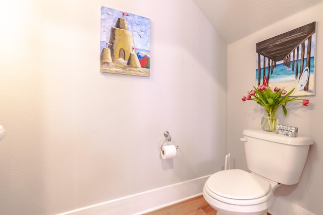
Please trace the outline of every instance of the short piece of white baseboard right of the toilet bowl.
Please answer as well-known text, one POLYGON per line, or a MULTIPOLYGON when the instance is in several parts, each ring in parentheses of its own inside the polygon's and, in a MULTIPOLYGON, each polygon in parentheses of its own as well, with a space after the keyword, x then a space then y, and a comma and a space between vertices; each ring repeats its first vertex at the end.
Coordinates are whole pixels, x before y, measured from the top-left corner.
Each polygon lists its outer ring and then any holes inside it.
POLYGON ((272 215, 315 215, 308 210, 280 197, 274 195, 274 203, 268 209, 272 215))

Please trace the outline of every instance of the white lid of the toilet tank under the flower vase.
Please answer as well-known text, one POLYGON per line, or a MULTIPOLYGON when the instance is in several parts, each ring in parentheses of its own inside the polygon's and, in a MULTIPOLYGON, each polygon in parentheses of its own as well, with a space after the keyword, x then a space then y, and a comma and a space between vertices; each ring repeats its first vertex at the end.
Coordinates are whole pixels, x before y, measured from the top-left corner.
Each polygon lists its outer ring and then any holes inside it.
POLYGON ((280 144, 294 145, 294 146, 307 146, 313 144, 313 139, 307 136, 285 136, 277 134, 272 131, 264 131, 262 129, 247 128, 243 130, 243 135, 250 136, 258 139, 279 142, 280 144))

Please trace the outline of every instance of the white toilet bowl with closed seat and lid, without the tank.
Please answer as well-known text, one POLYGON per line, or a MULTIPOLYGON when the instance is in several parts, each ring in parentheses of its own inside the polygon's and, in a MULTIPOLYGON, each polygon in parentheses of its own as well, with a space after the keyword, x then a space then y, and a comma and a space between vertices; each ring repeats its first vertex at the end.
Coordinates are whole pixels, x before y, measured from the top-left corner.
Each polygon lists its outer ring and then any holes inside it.
POLYGON ((278 185, 243 170, 224 170, 207 179, 203 197, 217 215, 262 215, 272 204, 278 185))

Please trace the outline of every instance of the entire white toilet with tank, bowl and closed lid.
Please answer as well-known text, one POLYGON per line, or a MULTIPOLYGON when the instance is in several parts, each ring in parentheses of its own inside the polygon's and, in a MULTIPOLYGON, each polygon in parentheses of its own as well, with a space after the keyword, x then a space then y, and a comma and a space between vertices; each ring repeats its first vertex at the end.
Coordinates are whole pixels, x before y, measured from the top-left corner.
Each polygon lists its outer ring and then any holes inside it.
POLYGON ((265 215, 280 185, 297 184, 302 175, 310 137, 290 137, 262 129, 244 129, 247 167, 223 170, 204 184, 203 197, 217 215, 265 215))

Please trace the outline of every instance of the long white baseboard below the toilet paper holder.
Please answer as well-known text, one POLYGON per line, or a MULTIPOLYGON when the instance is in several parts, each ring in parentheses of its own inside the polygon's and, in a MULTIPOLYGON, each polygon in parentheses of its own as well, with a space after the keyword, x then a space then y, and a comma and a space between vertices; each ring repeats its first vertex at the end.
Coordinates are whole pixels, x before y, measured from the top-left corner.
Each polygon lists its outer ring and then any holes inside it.
POLYGON ((202 195, 210 175, 82 207, 58 215, 143 214, 202 195))

